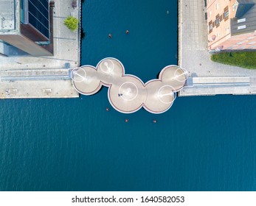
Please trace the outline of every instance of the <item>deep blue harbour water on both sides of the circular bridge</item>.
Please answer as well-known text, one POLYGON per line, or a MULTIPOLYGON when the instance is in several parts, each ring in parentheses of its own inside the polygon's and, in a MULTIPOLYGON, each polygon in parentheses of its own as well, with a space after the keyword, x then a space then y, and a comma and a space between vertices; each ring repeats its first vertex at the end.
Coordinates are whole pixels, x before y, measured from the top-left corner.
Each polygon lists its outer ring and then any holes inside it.
MULTIPOLYGON (((127 74, 156 77, 177 63, 176 6, 86 0, 82 64, 117 57, 127 74)), ((178 98, 156 116, 117 113, 107 88, 80 99, 1 100, 0 191, 255 191, 255 102, 178 98)))

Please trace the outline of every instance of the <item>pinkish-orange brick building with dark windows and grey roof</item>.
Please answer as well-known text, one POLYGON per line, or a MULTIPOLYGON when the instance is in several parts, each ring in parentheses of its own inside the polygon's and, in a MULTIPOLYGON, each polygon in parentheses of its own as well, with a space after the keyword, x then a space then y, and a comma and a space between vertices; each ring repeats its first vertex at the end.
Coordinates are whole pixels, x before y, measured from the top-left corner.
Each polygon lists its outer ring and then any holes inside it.
POLYGON ((207 0, 208 49, 256 49, 256 0, 207 0))

